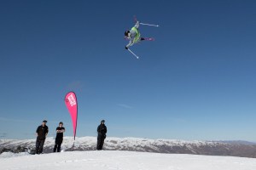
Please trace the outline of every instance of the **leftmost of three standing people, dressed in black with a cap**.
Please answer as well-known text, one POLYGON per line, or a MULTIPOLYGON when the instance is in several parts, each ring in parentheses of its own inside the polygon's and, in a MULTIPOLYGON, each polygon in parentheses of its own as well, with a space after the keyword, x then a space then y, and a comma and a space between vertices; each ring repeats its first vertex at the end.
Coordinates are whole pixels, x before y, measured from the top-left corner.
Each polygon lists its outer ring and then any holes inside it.
POLYGON ((44 141, 48 134, 48 127, 46 126, 46 120, 43 121, 42 125, 37 128, 37 142, 36 142, 36 154, 42 154, 44 149, 44 141))

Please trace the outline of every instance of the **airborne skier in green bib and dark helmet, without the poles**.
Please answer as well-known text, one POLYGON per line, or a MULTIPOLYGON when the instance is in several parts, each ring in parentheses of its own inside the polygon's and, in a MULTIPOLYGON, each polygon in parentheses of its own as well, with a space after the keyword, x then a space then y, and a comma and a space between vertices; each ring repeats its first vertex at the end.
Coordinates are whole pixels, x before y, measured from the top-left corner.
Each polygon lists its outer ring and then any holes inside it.
POLYGON ((141 37, 141 34, 138 30, 139 26, 140 26, 140 22, 137 20, 135 26, 133 26, 130 31, 129 30, 125 31, 125 38, 130 40, 130 42, 125 46, 125 49, 128 49, 129 47, 131 47, 134 43, 145 40, 144 37, 141 37))

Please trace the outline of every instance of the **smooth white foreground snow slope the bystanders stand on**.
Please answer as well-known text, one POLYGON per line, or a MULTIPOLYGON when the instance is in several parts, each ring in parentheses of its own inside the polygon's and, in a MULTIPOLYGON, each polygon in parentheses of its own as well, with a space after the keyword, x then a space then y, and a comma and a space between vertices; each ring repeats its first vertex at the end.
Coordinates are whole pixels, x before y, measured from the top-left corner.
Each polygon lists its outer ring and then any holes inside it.
POLYGON ((4 170, 255 170, 256 159, 92 150, 43 155, 3 153, 0 167, 4 170))

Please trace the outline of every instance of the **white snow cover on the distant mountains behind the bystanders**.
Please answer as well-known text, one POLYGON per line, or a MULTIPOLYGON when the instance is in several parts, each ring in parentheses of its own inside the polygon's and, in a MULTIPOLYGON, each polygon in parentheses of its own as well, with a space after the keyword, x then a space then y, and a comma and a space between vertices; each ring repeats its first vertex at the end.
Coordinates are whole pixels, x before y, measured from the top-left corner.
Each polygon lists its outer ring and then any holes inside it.
MULTIPOLYGON (((0 144, 4 145, 5 147, 11 145, 26 145, 33 147, 36 143, 36 139, 24 139, 24 140, 17 140, 17 139, 0 139, 0 144)), ((45 140, 44 147, 53 147, 55 143, 55 139, 53 137, 48 137, 45 140)), ((105 139, 104 147, 108 150, 115 150, 117 146, 120 148, 125 147, 143 147, 148 146, 152 147, 152 145, 168 145, 172 146, 183 146, 192 144, 194 146, 201 146, 201 145, 216 145, 216 144, 225 144, 221 142, 215 141, 201 141, 201 140, 178 140, 178 139, 140 139, 140 138, 115 138, 115 137, 108 137, 105 139)), ((77 137, 75 141, 76 146, 80 146, 83 148, 89 146, 96 147, 96 137, 77 137)), ((63 148, 71 148, 73 146, 73 137, 64 137, 62 149, 63 148)))

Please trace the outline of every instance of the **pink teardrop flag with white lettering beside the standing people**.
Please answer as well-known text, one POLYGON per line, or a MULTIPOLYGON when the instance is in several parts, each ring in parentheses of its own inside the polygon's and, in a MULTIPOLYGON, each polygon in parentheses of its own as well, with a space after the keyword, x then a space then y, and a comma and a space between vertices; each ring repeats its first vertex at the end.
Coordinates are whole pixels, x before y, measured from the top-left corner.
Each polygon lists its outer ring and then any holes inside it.
POLYGON ((76 94, 69 92, 65 96, 65 104, 67 105, 67 110, 70 113, 73 122, 73 139, 76 139, 77 132, 77 121, 78 121, 78 100, 76 94))

